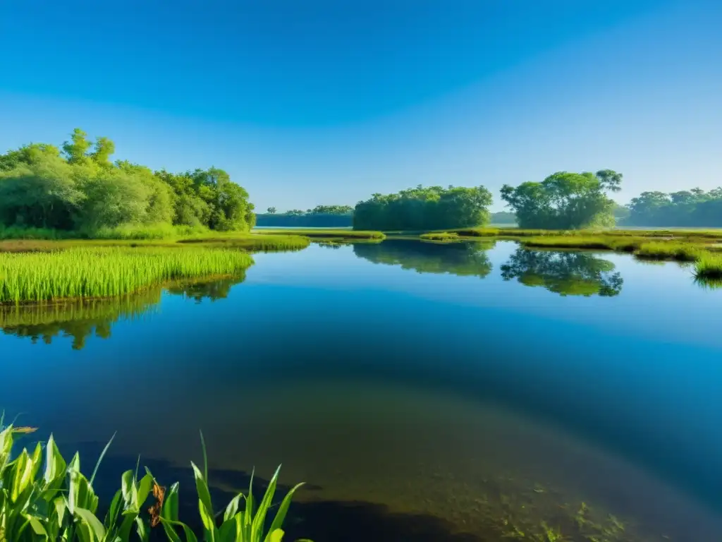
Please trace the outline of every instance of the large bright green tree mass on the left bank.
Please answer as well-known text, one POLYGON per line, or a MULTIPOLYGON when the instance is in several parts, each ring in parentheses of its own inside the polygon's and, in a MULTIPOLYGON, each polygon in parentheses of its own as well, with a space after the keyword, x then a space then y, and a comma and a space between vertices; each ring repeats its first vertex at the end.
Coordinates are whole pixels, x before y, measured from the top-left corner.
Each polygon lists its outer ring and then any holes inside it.
POLYGON ((0 228, 49 228, 88 235, 119 226, 185 225, 247 231, 248 192, 217 168, 186 173, 110 162, 115 145, 75 129, 62 151, 30 144, 0 155, 0 228))

